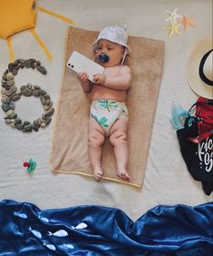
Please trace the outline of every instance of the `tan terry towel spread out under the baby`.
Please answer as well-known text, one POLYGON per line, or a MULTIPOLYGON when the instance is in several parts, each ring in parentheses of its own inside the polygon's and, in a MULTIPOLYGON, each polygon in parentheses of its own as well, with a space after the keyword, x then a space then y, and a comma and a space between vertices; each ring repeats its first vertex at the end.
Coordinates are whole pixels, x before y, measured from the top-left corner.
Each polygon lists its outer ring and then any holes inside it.
MULTIPOLYGON (((97 34, 98 32, 70 27, 66 38, 64 66, 73 51, 92 58, 92 42, 97 34)), ((116 176, 115 159, 108 140, 103 146, 102 178, 140 188, 160 90, 164 43, 149 38, 129 36, 128 44, 131 47, 128 64, 132 73, 131 91, 127 97, 130 113, 128 172, 131 182, 123 182, 116 176)), ((51 169, 54 172, 92 176, 87 156, 89 110, 88 95, 83 93, 76 74, 64 67, 63 83, 54 116, 50 157, 51 169)))

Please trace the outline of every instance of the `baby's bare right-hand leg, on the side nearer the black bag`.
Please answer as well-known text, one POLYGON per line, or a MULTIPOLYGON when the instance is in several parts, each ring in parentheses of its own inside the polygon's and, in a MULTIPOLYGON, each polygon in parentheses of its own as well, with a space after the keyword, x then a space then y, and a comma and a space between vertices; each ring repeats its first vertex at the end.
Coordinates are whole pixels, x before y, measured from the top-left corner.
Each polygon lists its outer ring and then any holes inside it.
POLYGON ((117 164, 117 175, 124 181, 130 181, 126 171, 128 160, 127 149, 127 126, 128 118, 118 119, 111 127, 110 143, 114 147, 114 155, 117 164))

